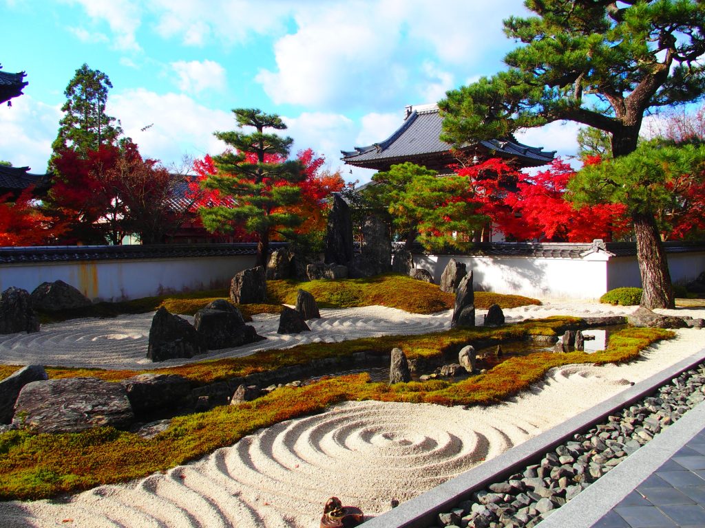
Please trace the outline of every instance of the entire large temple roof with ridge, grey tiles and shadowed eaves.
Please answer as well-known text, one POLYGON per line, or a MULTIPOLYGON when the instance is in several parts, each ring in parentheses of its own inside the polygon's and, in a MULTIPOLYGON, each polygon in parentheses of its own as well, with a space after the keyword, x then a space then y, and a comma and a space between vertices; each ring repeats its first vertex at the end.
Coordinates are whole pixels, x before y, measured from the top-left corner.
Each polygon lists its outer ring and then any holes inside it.
MULTIPOLYGON (((440 139, 442 125, 443 118, 435 104, 408 107, 403 125, 390 137, 369 146, 356 146, 353 151, 341 151, 341 159, 349 165, 376 170, 388 170, 391 165, 410 161, 447 172, 447 166, 458 161, 450 153, 450 144, 440 139)), ((461 150, 471 156, 514 160, 522 167, 546 165, 556 154, 556 151, 521 144, 513 137, 481 141, 461 150)))

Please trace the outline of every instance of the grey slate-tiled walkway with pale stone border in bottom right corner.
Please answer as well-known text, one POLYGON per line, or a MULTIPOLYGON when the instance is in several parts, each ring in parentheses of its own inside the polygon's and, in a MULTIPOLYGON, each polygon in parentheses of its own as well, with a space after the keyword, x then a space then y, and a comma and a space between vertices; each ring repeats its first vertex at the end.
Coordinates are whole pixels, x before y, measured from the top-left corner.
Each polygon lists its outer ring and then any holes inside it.
POLYGON ((705 402, 538 528, 705 527, 705 402))

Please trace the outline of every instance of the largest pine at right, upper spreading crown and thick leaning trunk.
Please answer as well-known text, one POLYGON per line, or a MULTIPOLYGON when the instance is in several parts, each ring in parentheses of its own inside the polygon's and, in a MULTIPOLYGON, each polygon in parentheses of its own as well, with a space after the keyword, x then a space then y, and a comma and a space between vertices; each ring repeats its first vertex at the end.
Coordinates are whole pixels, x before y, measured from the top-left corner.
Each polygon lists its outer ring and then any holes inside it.
MULTIPOLYGON (((701 1, 526 0, 525 6, 536 16, 504 23, 508 37, 522 43, 505 56, 508 70, 448 92, 439 103, 446 141, 506 137, 522 127, 572 120, 608 132, 619 158, 637 149, 646 111, 703 95, 701 1)), ((671 307, 654 215, 635 210, 632 220, 643 302, 671 307)))

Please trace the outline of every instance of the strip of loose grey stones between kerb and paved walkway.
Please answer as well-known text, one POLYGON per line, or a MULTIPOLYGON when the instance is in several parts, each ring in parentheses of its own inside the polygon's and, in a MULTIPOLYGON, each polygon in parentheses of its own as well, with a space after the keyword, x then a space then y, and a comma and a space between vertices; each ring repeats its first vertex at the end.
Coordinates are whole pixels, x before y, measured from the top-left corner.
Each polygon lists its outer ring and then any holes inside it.
MULTIPOLYGON (((445 527, 531 528, 705 400, 705 363, 440 513, 445 527)), ((436 527, 438 524, 436 524, 436 527)), ((436 528, 434 527, 434 528, 436 528)))

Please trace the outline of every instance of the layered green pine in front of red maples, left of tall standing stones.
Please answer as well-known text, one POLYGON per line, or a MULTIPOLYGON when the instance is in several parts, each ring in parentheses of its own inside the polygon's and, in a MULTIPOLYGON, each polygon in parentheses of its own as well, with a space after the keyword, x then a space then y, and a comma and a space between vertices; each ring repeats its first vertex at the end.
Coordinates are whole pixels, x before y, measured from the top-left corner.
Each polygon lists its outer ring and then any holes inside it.
POLYGON ((299 161, 286 161, 293 139, 264 132, 286 129, 278 115, 255 108, 236 108, 233 113, 240 128, 254 127, 255 132, 215 132, 234 150, 214 158, 218 172, 204 181, 204 187, 231 196, 235 205, 202 208, 200 213, 209 231, 233 230, 242 224, 246 232, 255 234, 257 265, 266 265, 270 237, 275 233, 293 237, 293 228, 302 221, 286 208, 300 202, 301 189, 296 184, 306 175, 299 161))

